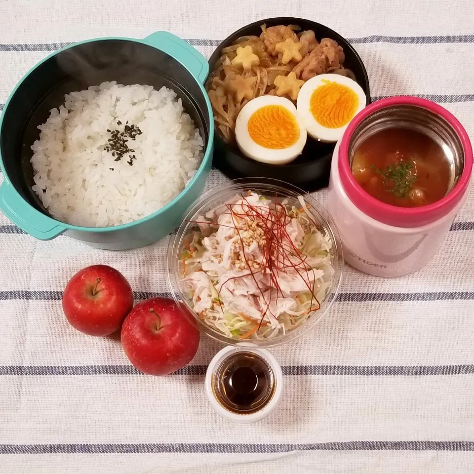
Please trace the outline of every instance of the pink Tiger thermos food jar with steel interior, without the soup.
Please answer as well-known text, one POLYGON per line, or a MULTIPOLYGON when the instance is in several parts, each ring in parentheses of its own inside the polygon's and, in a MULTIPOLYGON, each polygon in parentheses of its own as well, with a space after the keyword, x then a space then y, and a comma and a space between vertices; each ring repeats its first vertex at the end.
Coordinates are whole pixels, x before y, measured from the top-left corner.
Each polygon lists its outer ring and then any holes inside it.
POLYGON ((472 169, 466 130, 439 105, 400 96, 366 107, 347 127, 331 164, 328 211, 341 236, 346 262, 376 276, 402 276, 421 269, 435 256, 463 205, 472 169), (448 189, 442 198, 419 207, 400 207, 376 199, 356 181, 355 150, 387 128, 416 130, 441 147, 449 164, 448 189))

